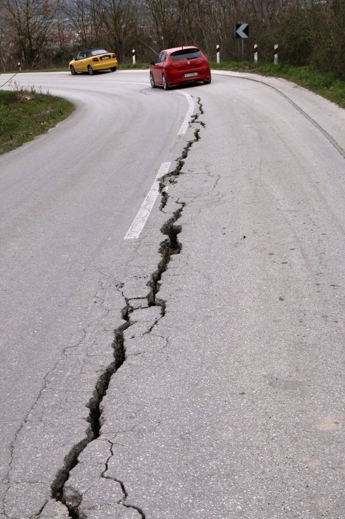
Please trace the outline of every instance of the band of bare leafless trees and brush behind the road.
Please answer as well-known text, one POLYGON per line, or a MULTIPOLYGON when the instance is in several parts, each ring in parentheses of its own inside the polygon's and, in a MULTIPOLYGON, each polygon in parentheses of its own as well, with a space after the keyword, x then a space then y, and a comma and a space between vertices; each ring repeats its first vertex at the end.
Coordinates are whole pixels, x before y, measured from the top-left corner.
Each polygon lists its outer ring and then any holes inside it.
POLYGON ((245 58, 255 42, 270 62, 278 43, 281 60, 344 77, 345 0, 0 0, 0 62, 4 70, 22 59, 32 65, 45 50, 51 63, 65 62, 74 43, 114 50, 120 61, 132 48, 149 60, 192 44, 215 58, 220 44, 222 60, 237 60, 240 21, 250 24, 245 58), (59 2, 65 17, 57 16, 59 2))

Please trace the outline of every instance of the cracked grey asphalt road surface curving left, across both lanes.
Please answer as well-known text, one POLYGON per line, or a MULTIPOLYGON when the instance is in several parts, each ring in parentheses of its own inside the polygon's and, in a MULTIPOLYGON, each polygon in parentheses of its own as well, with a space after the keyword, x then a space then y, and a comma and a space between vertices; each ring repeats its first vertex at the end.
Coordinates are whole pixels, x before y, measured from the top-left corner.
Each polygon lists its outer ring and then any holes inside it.
POLYGON ((345 517, 344 111, 19 79, 76 111, 0 157, 0 515, 345 517))

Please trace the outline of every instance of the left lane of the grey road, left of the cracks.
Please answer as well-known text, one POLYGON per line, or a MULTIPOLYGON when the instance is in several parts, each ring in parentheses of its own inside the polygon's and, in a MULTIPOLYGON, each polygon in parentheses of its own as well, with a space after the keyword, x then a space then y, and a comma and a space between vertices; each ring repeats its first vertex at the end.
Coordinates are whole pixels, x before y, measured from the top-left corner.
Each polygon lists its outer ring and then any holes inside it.
POLYGON ((178 155, 189 110, 179 92, 152 95, 147 73, 16 79, 65 95, 77 110, 0 157, 3 481, 47 374, 88 327, 102 327, 99 294, 124 278, 135 245, 123 238, 162 162, 178 155))

